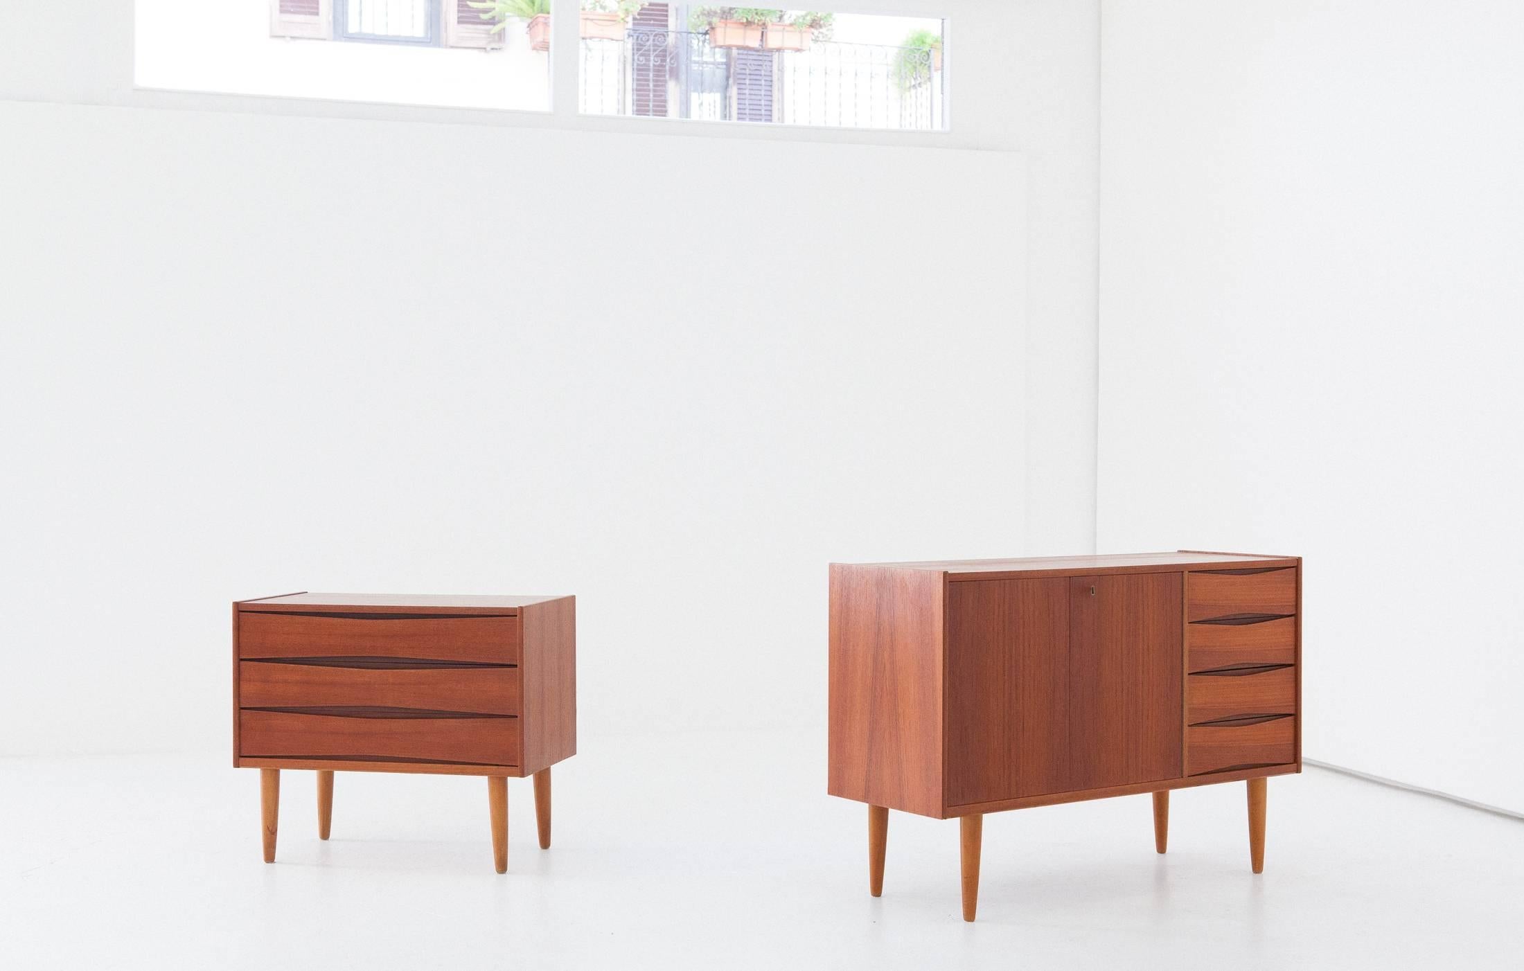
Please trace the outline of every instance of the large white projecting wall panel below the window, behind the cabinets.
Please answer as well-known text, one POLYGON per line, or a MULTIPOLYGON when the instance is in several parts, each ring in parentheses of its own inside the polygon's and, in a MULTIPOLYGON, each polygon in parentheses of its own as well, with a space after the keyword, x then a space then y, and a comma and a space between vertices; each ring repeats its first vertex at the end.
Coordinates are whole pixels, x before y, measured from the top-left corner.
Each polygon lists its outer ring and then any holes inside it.
POLYGON ((829 561, 1021 541, 1010 154, 0 128, 6 751, 226 748, 229 602, 294 588, 576 593, 590 739, 820 723, 829 561))

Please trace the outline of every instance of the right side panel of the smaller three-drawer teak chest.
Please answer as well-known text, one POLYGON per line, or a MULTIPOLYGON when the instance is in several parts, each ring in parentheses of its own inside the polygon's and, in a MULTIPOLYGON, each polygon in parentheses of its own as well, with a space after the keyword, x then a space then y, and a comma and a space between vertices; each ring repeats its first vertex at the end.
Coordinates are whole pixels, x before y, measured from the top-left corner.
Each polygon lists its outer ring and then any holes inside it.
POLYGON ((520 721, 527 776, 576 755, 576 598, 520 610, 520 721))

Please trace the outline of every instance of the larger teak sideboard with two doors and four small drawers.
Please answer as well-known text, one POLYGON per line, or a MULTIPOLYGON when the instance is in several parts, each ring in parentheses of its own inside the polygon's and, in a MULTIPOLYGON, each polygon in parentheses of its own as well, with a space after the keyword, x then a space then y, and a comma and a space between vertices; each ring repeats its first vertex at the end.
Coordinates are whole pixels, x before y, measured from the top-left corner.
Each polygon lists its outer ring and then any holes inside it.
POLYGON ((832 564, 828 791, 869 803, 869 890, 888 809, 960 819, 963 919, 985 812, 1301 771, 1301 559, 1141 553, 832 564))

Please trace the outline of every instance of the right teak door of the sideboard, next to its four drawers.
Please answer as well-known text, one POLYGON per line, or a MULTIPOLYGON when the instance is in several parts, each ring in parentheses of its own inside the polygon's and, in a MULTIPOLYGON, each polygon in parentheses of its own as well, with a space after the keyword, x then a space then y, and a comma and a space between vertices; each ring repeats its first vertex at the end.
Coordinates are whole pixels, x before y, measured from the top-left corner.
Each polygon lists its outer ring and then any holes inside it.
POLYGON ((1068 788, 1178 777, 1181 575, 1076 576, 1068 584, 1068 788))

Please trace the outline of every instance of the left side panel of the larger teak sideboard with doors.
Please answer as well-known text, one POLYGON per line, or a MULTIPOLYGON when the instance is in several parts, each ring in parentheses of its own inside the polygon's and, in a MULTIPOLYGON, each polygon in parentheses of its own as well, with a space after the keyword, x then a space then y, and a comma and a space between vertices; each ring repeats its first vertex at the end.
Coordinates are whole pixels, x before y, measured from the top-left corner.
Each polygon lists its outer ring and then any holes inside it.
POLYGON ((832 796, 943 814, 942 588, 933 570, 831 567, 832 796))

